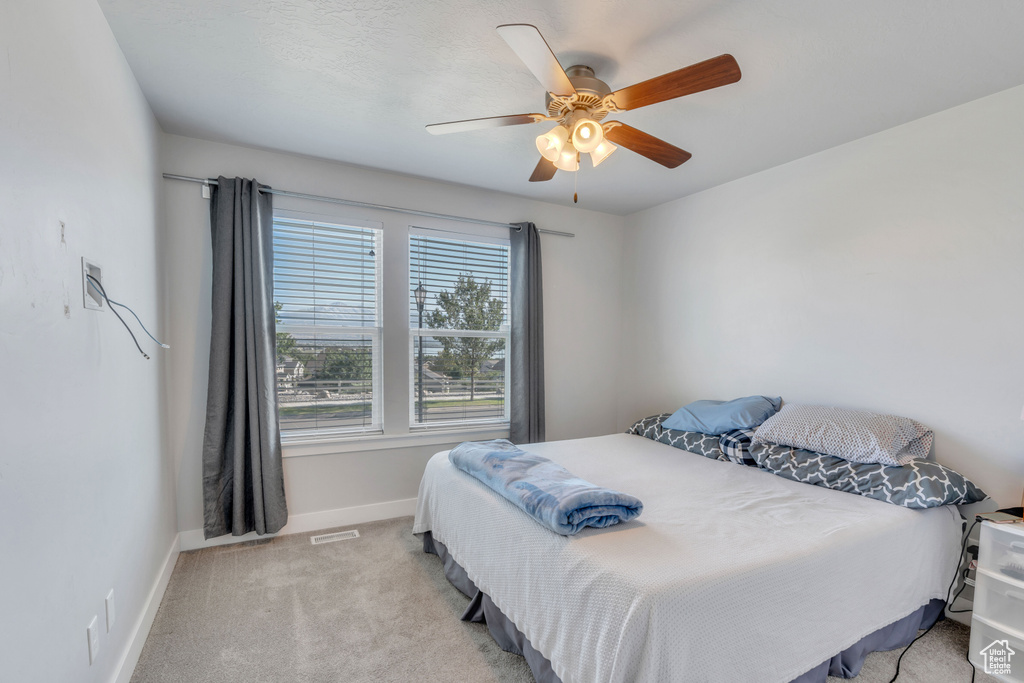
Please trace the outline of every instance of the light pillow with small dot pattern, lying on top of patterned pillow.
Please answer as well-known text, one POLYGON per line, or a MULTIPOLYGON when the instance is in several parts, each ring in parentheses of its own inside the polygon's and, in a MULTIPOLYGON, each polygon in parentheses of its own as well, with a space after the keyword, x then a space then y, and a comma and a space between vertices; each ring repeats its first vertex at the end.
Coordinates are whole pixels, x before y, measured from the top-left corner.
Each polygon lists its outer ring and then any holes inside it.
POLYGON ((781 443, 857 463, 904 465, 927 458, 932 430, 895 415, 829 405, 787 403, 754 434, 754 443, 781 443))

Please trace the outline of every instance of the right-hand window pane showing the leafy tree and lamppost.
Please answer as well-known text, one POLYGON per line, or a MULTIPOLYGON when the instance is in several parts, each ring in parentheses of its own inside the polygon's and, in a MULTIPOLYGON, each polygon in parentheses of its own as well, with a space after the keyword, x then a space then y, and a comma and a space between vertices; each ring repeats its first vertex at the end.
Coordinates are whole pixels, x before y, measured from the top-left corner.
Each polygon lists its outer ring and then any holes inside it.
POLYGON ((410 238, 414 427, 508 422, 507 240, 410 238))

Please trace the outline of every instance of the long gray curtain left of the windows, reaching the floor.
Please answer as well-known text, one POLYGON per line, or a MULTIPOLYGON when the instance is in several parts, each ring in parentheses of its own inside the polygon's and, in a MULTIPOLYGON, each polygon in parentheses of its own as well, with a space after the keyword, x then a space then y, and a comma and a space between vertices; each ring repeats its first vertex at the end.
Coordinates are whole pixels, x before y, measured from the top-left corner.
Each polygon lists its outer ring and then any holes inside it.
POLYGON ((273 216, 255 180, 217 178, 210 202, 213 326, 203 442, 207 539, 288 521, 275 387, 273 216))

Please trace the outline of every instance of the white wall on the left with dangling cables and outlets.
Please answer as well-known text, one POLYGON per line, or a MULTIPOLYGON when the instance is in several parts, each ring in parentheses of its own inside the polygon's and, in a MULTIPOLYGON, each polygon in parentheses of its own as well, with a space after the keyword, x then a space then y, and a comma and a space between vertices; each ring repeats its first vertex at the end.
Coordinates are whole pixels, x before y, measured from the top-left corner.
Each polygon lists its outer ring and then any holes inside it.
POLYGON ((112 681, 176 553, 174 486, 163 361, 83 308, 79 259, 162 331, 159 129, 94 2, 0 3, 0 679, 112 681))

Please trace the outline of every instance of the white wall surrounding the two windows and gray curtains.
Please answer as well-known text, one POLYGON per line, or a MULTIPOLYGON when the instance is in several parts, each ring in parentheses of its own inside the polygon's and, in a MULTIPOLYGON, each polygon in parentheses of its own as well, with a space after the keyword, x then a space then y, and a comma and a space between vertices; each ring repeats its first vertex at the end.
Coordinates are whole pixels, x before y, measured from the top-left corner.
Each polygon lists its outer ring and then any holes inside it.
MULTIPOLYGON (((622 307, 622 217, 174 135, 163 138, 162 165, 168 173, 255 177, 282 189, 485 220, 532 220, 542 228, 575 232, 574 239, 542 237, 548 438, 603 434, 618 428, 615 374, 622 307)), ((178 527, 188 532, 182 542, 184 547, 190 547, 200 538, 196 529, 203 525, 200 481, 210 335, 209 203, 202 199, 197 184, 168 180, 164 190, 168 337, 172 346, 168 433, 177 466, 178 527)), ((280 196, 274 198, 274 206, 321 214, 335 212, 383 223, 385 267, 402 271, 408 269, 410 224, 465 227, 450 221, 338 208, 280 196)), ((408 303, 403 303, 408 302, 408 292, 385 288, 385 329, 408 326, 408 303), (396 313, 390 317, 389 297, 398 299, 398 305, 391 307, 396 313)), ((385 344, 388 339, 408 344, 402 335, 385 335, 385 344)), ((398 372, 388 369, 384 382, 385 395, 404 396, 408 368, 403 366, 398 372)), ((393 425, 394 418, 400 419, 395 411, 408 415, 408 410, 401 400, 386 402, 385 424, 393 425)), ((382 504, 415 498, 427 459, 444 447, 450 446, 435 443, 303 457, 293 457, 299 451, 287 450, 290 457, 285 459, 285 485, 293 521, 285 531, 315 527, 330 520, 358 521, 357 516, 316 514, 355 506, 378 506, 365 510, 364 517, 411 513, 408 502, 404 507, 382 504), (295 520, 303 517, 303 524, 296 526, 295 520)))

